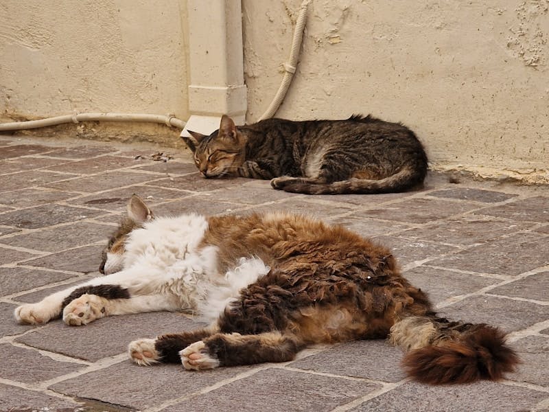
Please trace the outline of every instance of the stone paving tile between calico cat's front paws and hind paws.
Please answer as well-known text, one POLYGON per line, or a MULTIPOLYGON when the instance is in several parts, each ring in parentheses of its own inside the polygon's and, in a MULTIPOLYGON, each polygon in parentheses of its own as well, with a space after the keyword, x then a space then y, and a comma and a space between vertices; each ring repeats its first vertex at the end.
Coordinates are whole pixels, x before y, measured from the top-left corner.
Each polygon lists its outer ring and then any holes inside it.
POLYGON ((85 361, 98 361, 126 352, 128 343, 136 339, 204 326, 181 313, 149 312, 98 319, 85 326, 69 326, 61 320, 53 321, 16 341, 85 361), (98 336, 101 336, 100 345, 98 336))

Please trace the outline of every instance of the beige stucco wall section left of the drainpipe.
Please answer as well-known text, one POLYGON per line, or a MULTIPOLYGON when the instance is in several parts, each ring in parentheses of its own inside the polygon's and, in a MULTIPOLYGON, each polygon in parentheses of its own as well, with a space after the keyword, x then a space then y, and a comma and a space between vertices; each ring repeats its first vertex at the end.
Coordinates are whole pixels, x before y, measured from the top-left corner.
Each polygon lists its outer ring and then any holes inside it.
POLYGON ((0 116, 186 119, 185 1, 0 3, 0 116))

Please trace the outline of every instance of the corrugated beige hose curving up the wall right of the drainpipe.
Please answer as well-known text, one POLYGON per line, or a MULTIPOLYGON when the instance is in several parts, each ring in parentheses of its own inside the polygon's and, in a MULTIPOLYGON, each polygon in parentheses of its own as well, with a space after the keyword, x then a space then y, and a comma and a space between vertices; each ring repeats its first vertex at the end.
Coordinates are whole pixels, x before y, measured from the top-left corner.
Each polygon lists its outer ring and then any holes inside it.
POLYGON ((292 38, 292 51, 290 52, 290 59, 288 62, 284 63, 284 77, 282 78, 277 94, 274 95, 274 99, 270 103, 266 112, 259 117, 259 120, 270 119, 270 117, 274 116, 282 104, 286 93, 288 93, 288 89, 290 89, 292 78, 296 72, 297 59, 299 58, 301 41, 303 40, 303 30, 305 30, 305 22, 307 21, 307 6, 310 2, 311 0, 305 0, 301 3, 301 10, 299 10, 296 27, 294 29, 294 38, 292 38))

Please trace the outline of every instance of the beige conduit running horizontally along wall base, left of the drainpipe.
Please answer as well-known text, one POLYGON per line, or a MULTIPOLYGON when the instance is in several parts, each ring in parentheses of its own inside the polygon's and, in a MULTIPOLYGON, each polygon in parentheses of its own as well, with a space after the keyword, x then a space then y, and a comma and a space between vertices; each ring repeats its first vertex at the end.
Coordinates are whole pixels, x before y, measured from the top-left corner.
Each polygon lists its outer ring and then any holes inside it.
POLYGON ((0 132, 8 130, 24 130, 45 126, 56 126, 63 123, 79 122, 149 122, 174 126, 183 130, 185 122, 174 115, 129 115, 125 113, 75 113, 73 115, 48 117, 47 119, 30 120, 28 122, 12 122, 0 124, 0 132))

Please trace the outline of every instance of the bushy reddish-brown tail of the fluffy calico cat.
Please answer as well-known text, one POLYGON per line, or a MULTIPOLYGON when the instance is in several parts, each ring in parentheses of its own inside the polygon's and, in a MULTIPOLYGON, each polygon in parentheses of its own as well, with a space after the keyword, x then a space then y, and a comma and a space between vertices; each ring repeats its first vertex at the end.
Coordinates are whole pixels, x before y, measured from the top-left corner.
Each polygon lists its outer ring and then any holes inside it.
POLYGON ((406 317, 393 325, 389 339, 408 350, 403 360, 408 375, 431 385, 498 380, 519 363, 504 332, 484 323, 406 317))

